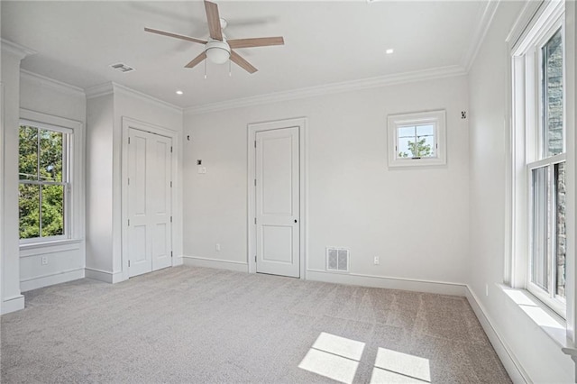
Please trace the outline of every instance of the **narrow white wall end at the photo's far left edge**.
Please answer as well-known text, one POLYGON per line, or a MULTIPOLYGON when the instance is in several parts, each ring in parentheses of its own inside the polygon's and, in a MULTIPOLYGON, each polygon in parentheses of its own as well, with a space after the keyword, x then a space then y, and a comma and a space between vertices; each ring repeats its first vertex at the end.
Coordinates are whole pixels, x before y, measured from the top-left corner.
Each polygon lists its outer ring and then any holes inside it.
MULTIPOLYGON (((25 52, 2 42, 2 84, 4 87, 4 169, 2 187, 5 191, 18 189, 18 126, 20 114, 20 60, 25 52)), ((24 307, 20 291, 20 260, 18 233, 18 195, 3 193, 3 232, 0 239, 0 268, 2 273, 1 313, 24 307)))

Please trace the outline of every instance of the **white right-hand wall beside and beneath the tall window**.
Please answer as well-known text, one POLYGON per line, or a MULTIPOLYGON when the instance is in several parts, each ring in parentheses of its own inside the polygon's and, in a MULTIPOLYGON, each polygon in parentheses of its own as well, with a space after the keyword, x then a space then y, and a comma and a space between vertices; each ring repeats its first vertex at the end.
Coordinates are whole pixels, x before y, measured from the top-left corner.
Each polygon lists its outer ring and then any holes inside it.
MULTIPOLYGON (((517 368, 533 382, 574 382, 571 359, 513 301, 503 282, 507 230, 508 68, 506 38, 523 3, 500 2, 469 76, 471 242, 468 281, 517 368), (489 289, 486 296, 485 289, 489 289)), ((508 358, 506 359, 508 360, 508 358)), ((517 376, 518 377, 518 376, 517 376)))

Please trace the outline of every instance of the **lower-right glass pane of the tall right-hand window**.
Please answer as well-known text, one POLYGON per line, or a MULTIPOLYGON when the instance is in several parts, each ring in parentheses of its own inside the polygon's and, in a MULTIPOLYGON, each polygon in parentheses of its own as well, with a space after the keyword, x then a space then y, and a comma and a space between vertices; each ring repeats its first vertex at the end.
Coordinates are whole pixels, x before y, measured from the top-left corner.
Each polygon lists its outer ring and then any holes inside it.
POLYGON ((565 297, 565 163, 555 164, 555 295, 565 297))

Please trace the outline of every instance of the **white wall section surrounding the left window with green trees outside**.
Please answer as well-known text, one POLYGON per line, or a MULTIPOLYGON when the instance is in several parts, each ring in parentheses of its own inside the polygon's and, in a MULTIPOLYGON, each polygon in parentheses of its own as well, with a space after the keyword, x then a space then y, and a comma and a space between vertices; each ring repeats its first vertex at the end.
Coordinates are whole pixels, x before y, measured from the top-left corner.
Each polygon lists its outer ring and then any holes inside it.
MULTIPOLYGON (((55 82, 50 78, 22 71, 20 78, 20 107, 29 111, 50 114, 82 124, 76 132, 78 143, 74 146, 75 186, 73 197, 73 242, 68 244, 21 247, 21 289, 41 288, 71 279, 84 277, 85 266, 85 142, 86 96, 84 91, 55 82), (78 145, 79 144, 79 145, 78 145), (45 257, 47 264, 42 265, 45 257)), ((75 138, 76 139, 76 138, 75 138)))

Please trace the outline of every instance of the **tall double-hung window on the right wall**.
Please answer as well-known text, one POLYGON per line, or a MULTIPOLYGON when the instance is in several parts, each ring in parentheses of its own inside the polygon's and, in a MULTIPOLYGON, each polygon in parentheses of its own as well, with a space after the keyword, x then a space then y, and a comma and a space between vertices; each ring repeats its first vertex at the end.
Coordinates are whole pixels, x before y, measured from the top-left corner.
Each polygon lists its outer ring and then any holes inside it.
POLYGON ((524 286, 564 317, 566 135, 563 31, 563 9, 552 3, 513 52, 517 136, 513 151, 524 154, 517 156, 515 178, 520 181, 517 186, 521 187, 517 187, 513 198, 521 203, 517 204, 518 212, 515 213, 518 222, 515 248, 521 250, 517 255, 517 265, 527 266, 522 278, 524 286), (524 201, 527 204, 523 204, 524 201))

